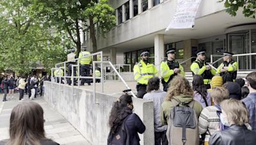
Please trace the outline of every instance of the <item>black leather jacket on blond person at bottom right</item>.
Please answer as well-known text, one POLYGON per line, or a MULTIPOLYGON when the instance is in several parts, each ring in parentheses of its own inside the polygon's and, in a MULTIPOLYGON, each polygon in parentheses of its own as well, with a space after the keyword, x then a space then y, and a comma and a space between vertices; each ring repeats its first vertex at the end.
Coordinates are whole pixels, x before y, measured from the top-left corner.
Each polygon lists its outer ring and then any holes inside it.
POLYGON ((245 125, 232 125, 227 130, 215 132, 209 145, 255 145, 256 132, 248 130, 245 125))

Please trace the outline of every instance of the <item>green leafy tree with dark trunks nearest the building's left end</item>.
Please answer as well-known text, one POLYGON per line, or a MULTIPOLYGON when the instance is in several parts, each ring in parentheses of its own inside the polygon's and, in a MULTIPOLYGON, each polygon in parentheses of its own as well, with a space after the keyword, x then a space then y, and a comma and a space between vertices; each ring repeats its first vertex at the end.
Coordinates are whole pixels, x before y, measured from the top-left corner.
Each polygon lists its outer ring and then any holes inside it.
POLYGON ((40 18, 49 27, 55 26, 67 32, 76 44, 77 55, 81 52, 81 32, 90 30, 94 53, 97 52, 95 25, 102 34, 115 25, 115 10, 109 6, 108 0, 34 0, 31 10, 33 17, 40 18))

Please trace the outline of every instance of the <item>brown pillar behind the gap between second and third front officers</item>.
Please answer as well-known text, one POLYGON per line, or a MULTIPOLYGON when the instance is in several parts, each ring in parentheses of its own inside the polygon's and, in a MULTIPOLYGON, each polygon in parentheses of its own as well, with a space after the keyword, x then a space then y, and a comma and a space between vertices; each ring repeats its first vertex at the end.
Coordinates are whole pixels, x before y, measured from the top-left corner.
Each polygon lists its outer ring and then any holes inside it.
MULTIPOLYGON (((196 39, 184 40, 184 57, 183 60, 187 60, 192 56, 192 47, 198 47, 198 41, 196 39)), ((191 60, 188 60, 184 65, 184 71, 190 71, 191 60)))

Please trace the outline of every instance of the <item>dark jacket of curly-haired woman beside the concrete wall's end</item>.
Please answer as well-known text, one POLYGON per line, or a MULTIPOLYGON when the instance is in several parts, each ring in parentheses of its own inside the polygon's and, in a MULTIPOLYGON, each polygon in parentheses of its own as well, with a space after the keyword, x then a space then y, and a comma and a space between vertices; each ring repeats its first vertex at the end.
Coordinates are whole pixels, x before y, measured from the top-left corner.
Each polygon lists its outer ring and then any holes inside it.
POLYGON ((145 132, 146 127, 143 122, 140 120, 140 117, 132 113, 128 116, 125 125, 129 130, 129 140, 131 145, 139 145, 140 144, 140 137, 138 133, 142 134, 145 132))

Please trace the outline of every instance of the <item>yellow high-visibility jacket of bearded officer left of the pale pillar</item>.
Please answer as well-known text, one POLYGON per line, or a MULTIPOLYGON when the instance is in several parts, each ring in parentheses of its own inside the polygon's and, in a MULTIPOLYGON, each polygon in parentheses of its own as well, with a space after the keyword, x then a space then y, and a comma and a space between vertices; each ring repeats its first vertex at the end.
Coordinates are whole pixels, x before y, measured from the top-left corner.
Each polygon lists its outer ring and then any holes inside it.
POLYGON ((145 64, 143 60, 140 60, 140 62, 133 67, 133 74, 137 83, 142 85, 148 85, 148 79, 158 76, 154 64, 145 64))

